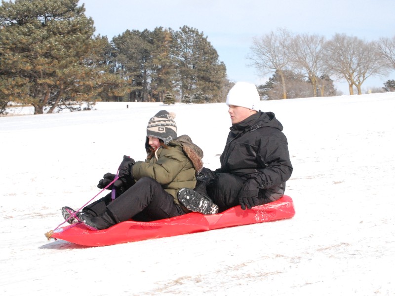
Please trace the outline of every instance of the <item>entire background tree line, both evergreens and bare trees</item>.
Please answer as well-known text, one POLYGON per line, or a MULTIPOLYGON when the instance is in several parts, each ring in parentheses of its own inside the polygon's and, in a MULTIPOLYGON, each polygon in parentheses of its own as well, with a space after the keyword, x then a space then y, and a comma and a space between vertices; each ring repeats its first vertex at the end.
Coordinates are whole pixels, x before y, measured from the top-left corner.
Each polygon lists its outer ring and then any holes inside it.
MULTIPOLYGON (((226 66, 202 32, 126 30, 111 41, 94 35, 78 0, 9 0, 0 6, 0 114, 9 102, 35 114, 89 110, 97 100, 223 102, 232 86, 226 66)), ((266 99, 336 95, 334 79, 350 94, 371 75, 395 68, 395 37, 366 42, 336 34, 294 35, 285 29, 254 38, 248 60, 266 99)), ((391 81, 388 81, 391 89, 391 81)))

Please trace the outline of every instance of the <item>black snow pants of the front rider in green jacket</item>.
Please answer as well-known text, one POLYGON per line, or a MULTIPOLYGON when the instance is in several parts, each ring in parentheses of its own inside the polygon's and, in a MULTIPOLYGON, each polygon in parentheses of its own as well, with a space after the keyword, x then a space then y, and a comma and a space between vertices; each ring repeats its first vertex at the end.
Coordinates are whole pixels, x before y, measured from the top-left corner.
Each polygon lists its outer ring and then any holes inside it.
POLYGON ((173 200, 170 193, 152 178, 141 178, 120 194, 114 201, 111 193, 84 207, 85 212, 94 217, 111 217, 114 224, 133 219, 154 221, 185 214, 173 200))

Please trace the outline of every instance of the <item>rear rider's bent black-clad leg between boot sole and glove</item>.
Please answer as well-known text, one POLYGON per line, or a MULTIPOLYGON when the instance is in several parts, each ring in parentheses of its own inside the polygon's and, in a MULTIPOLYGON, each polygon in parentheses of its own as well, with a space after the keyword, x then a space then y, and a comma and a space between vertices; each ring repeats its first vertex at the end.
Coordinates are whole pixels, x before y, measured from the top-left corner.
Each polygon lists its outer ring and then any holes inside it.
POLYGON ((244 180, 236 175, 220 173, 207 186, 207 193, 223 212, 240 204, 237 196, 243 184, 244 180))

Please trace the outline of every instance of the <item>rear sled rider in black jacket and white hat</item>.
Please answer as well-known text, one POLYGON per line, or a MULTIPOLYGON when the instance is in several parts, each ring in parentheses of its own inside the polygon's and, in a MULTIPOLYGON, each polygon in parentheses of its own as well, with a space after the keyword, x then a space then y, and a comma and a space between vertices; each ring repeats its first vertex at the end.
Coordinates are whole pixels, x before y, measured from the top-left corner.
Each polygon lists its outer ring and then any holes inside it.
POLYGON ((229 91, 232 127, 221 167, 203 168, 194 190, 180 190, 178 198, 187 209, 207 214, 215 205, 219 212, 240 205, 245 210, 283 196, 293 170, 288 142, 275 114, 257 111, 259 101, 252 83, 237 82, 229 91))

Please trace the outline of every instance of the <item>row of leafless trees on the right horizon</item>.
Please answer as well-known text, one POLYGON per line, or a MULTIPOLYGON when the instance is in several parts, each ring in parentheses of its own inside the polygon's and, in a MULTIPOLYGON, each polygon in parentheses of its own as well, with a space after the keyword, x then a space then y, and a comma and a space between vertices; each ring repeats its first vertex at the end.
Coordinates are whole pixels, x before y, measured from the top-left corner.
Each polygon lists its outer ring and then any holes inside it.
MULTIPOLYGON (((286 99, 295 91, 295 81, 305 82, 298 96, 334 95, 333 80, 347 81, 350 95, 362 94, 361 86, 370 76, 395 69, 395 36, 365 41, 335 34, 331 39, 309 34, 293 34, 278 28, 253 38, 248 56, 261 75, 274 73, 260 86, 269 98, 286 99), (307 90, 310 88, 310 91, 307 90)), ((387 81, 391 84, 391 81, 387 81)), ((292 97, 292 96, 291 96, 292 97)))

